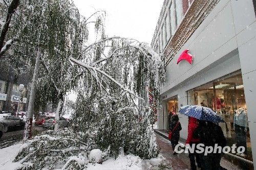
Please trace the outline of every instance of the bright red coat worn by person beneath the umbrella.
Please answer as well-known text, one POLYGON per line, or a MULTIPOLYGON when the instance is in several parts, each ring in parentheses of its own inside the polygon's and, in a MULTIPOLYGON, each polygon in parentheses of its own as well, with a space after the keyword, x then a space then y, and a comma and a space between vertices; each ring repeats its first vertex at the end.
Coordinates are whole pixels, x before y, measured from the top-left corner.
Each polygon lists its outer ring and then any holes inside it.
POLYGON ((186 144, 199 142, 199 138, 194 138, 194 137, 193 137, 193 132, 195 131, 195 129, 196 129, 197 127, 198 127, 197 119, 194 118, 194 117, 189 117, 189 118, 188 118, 187 140, 186 140, 186 144))

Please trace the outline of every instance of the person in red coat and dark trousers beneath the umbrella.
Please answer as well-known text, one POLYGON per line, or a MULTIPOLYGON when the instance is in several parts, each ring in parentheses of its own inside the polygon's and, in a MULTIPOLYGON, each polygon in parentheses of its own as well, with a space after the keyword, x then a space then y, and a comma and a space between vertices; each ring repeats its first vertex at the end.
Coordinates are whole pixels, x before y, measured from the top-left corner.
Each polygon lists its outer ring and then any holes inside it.
MULTIPOLYGON (((189 144, 190 147, 192 147, 193 144, 195 144, 195 148, 197 148, 197 144, 199 144, 199 136, 198 138, 193 137, 193 132, 195 129, 198 127, 198 122, 195 117, 188 117, 188 127, 187 127, 187 140, 186 144, 189 144)), ((190 160, 190 169, 191 170, 196 170, 197 166, 201 167, 201 160, 200 160, 200 155, 196 152, 191 153, 190 150, 188 152, 188 157, 190 160), (197 161, 197 166, 196 166, 196 161, 197 161)))

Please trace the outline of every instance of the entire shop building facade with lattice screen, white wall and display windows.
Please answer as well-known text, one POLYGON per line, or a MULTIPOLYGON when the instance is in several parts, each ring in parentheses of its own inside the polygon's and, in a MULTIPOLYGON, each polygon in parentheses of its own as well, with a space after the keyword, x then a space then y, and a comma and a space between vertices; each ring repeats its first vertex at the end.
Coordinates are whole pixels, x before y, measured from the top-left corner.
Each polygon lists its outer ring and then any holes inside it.
MULTIPOLYGON (((219 125, 232 145, 237 143, 236 115, 241 109, 247 151, 246 156, 238 156, 250 163, 256 159, 255 5, 254 0, 194 0, 187 1, 186 8, 184 1, 165 1, 151 43, 166 61, 158 129, 168 130, 169 112, 178 113, 185 105, 202 105, 222 116, 226 123, 219 125), (177 64, 186 49, 193 62, 177 64)), ((188 118, 179 117, 180 135, 186 139, 188 118)))

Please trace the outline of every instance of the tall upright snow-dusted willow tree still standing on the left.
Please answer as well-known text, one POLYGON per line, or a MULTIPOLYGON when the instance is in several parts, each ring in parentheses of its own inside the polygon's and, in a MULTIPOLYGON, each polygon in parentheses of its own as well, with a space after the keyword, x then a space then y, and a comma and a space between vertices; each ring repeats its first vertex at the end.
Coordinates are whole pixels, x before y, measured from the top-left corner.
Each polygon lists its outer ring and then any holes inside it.
MULTIPOLYGON (((23 14, 16 17, 14 24, 24 24, 25 27, 19 33, 12 53, 15 60, 27 63, 27 69, 34 69, 29 108, 33 108, 33 89, 36 88, 37 107, 45 106, 47 102, 57 105, 58 121, 58 112, 66 92, 78 82, 77 79, 72 79, 78 67, 73 66, 69 58, 80 55, 82 46, 88 39, 87 23, 90 18, 82 17, 73 1, 69 0, 25 0, 20 3, 19 8, 23 10, 23 14)), ((95 29, 100 33, 104 12, 96 12, 92 17, 96 18, 95 29)), ((10 36, 17 32, 18 30, 12 30, 10 36)), ((28 110, 25 139, 31 134, 32 110, 28 110)), ((56 129, 57 125, 58 123, 56 129)))

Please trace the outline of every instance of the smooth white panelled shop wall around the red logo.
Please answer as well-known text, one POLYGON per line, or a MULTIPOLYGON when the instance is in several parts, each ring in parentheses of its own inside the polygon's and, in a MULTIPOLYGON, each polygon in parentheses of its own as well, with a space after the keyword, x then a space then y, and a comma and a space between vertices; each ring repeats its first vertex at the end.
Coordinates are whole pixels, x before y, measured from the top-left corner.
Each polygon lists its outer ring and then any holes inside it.
MULTIPOLYGON (((241 69, 249 128, 256 129, 255 47, 256 17, 252 0, 220 1, 168 63, 166 82, 161 93, 164 96, 163 103, 166 103, 168 98, 178 95, 179 107, 181 104, 190 104, 187 102, 187 90, 241 69), (177 59, 185 49, 189 49, 189 53, 194 56, 193 64, 181 61, 177 65, 177 59)), ((179 117, 182 124, 180 135, 186 138, 187 117, 183 115, 179 117)), ((161 118, 159 117, 160 124, 161 118)), ((251 132, 250 138, 252 155, 256 159, 256 133, 251 132)), ((255 163, 254 167, 256 167, 255 163)))

